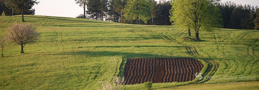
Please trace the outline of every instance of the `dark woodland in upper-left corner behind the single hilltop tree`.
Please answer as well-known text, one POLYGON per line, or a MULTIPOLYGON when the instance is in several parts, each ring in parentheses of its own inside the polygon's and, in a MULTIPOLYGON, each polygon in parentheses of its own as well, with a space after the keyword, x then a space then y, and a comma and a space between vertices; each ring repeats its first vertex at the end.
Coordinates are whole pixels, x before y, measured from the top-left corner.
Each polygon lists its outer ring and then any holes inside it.
MULTIPOLYGON (((15 10, 15 4, 9 4, 11 2, 12 2, 11 0, 0 0, 0 15, 3 12, 5 12, 5 14, 8 16, 22 14, 22 12, 15 10)), ((23 11, 23 14, 34 15, 35 9, 25 8, 25 10, 23 11)))

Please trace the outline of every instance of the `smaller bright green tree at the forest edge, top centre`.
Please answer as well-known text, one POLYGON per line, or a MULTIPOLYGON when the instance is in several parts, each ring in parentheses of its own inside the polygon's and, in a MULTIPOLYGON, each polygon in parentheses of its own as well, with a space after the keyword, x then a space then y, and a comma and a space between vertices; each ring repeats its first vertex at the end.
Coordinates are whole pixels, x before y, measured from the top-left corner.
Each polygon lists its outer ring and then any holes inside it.
POLYGON ((142 20, 147 24, 151 19, 152 0, 128 0, 124 8, 126 19, 136 19, 137 24, 142 20))

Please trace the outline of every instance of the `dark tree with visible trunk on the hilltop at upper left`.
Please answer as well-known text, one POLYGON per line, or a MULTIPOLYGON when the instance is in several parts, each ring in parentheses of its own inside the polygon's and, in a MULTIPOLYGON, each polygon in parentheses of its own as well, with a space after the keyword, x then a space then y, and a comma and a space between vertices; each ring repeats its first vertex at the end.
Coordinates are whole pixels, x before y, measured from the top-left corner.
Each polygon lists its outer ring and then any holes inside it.
POLYGON ((22 19, 24 22, 23 14, 30 10, 33 5, 38 4, 37 0, 5 0, 7 7, 13 8, 16 13, 22 14, 22 19))

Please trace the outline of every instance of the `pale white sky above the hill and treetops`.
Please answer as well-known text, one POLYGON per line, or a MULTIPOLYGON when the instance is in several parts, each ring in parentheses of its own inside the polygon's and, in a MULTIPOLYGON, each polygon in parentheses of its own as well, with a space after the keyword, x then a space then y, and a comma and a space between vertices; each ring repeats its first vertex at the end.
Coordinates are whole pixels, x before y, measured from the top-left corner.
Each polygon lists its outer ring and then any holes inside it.
MULTIPOLYGON (((76 17, 83 13, 83 8, 75 3, 75 0, 37 0, 39 4, 34 5, 35 15, 76 17)), ((159 0, 156 0, 159 1, 159 0)), ((167 0, 168 1, 168 0, 167 0)), ((259 6, 259 0, 221 0, 232 1, 236 4, 250 4, 259 6)))

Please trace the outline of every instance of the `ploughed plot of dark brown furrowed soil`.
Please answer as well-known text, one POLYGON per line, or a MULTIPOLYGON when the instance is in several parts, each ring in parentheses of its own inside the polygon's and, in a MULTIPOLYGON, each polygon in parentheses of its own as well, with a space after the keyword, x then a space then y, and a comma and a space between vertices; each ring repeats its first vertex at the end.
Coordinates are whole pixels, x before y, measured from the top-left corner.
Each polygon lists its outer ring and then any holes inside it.
POLYGON ((202 68, 193 58, 131 58, 124 70, 125 84, 187 82, 202 68))

